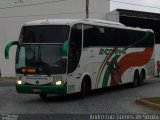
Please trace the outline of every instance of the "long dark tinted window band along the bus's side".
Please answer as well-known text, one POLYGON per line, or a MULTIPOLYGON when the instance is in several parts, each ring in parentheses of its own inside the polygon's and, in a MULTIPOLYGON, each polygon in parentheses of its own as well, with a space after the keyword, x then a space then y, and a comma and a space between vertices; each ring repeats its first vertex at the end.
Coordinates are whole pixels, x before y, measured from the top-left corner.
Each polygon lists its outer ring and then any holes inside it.
POLYGON ((84 25, 84 47, 152 47, 153 44, 154 35, 151 32, 84 25))

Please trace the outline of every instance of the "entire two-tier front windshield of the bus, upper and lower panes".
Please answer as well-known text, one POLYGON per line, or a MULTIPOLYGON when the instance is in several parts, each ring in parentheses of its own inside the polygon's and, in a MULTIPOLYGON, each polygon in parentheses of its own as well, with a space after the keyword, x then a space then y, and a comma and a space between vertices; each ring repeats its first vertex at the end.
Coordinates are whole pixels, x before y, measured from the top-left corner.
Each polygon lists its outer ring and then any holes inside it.
POLYGON ((68 40, 67 25, 24 26, 16 55, 17 74, 65 74, 67 60, 63 44, 68 40))

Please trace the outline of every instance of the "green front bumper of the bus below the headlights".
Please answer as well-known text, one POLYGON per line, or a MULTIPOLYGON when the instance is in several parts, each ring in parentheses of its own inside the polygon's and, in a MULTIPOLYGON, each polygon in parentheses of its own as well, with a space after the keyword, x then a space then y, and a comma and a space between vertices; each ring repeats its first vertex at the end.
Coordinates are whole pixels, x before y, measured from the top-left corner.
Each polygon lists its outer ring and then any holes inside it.
POLYGON ((18 93, 31 94, 67 94, 67 84, 63 85, 19 85, 16 84, 18 93))

